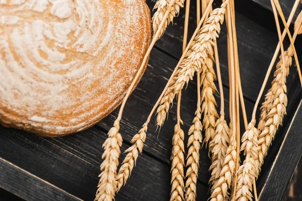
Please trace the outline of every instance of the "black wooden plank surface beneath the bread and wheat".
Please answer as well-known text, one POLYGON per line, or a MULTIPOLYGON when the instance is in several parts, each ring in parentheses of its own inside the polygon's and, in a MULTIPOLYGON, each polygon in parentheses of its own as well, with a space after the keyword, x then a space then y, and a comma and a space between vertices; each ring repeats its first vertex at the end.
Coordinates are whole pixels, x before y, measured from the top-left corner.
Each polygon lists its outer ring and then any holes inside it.
MULTIPOLYGON (((267 2, 269 3, 269 1, 267 2)), ((283 0, 280 2, 282 2, 281 6, 284 8, 285 16, 288 16, 288 11, 290 11, 288 8, 290 8, 293 1, 283 0)), ((147 1, 147 4, 152 9, 155 2, 147 1)), ((214 5, 215 7, 219 6, 219 1, 214 1, 214 5)), ((189 34, 194 32, 196 26, 195 9, 195 1, 192 1, 189 34)), ((236 11, 242 87, 248 119, 250 119, 266 69, 277 45, 278 37, 273 15, 266 2, 257 0, 236 1, 236 11)), ((128 100, 120 128, 124 139, 122 151, 131 146, 132 136, 144 123, 181 56, 183 20, 184 9, 175 19, 174 25, 169 26, 162 39, 157 42, 150 55, 148 68, 128 100)), ((229 122, 229 78, 224 25, 217 42, 223 90, 226 96, 226 119, 229 122)), ((288 44, 288 41, 285 41, 285 47, 288 44)), ((298 37, 296 41, 298 55, 302 54, 301 44, 302 40, 298 37)), ((270 175, 273 174, 267 172, 270 172, 278 153, 277 150, 283 140, 285 139, 281 150, 285 155, 280 158, 282 154, 279 154, 276 159, 281 160, 280 164, 286 162, 284 156, 290 151, 290 146, 286 141, 295 140, 295 143, 298 143, 298 140, 301 139, 298 135, 297 126, 290 127, 291 132, 288 132, 287 137, 284 138, 297 104, 301 99, 299 82, 294 81, 296 80, 295 67, 291 67, 290 71, 287 82, 289 99, 287 112, 289 115, 284 119, 284 126, 278 132, 265 161, 264 170, 257 181, 258 192, 262 190, 265 182, 272 178, 270 175), (292 128, 296 129, 292 131, 292 128), (293 135, 295 138, 289 138, 289 135, 293 135)), ((272 77, 270 77, 271 80, 272 77)), ((187 133, 194 117, 196 87, 196 81, 191 81, 182 96, 181 116, 184 120, 183 129, 185 133, 187 133)), ((218 97, 217 94, 216 100, 219 107, 218 97)), ((3 174, 0 176, 0 186, 27 200, 93 200, 100 172, 99 165, 102 162, 102 144, 106 139, 106 133, 113 125, 117 113, 118 109, 96 126, 60 138, 41 138, 21 130, 0 126, 0 140, 2 142, 0 146, 0 169, 3 174)), ((294 122, 298 122, 298 125, 301 121, 301 119, 294 120, 294 122)), ((117 201, 169 199, 170 154, 175 122, 176 107, 173 107, 169 113, 168 121, 161 129, 159 138, 157 138, 155 118, 152 119, 149 124, 143 154, 139 156, 127 185, 117 194, 117 201)), ((242 120, 241 130, 244 131, 242 120)), ((297 163, 296 159, 301 154, 301 148, 297 147, 296 149, 293 152, 294 159, 291 160, 293 165, 294 162, 297 163)), ((121 154, 121 160, 124 156, 125 154, 121 154)), ((209 163, 207 150, 204 147, 200 151, 197 200, 207 200, 208 198, 209 163)), ((290 179, 288 175, 293 172, 292 167, 288 166, 286 171, 286 180, 284 182, 278 180, 278 185, 281 186, 280 189, 286 189, 288 179, 290 179)), ((274 179, 277 179, 277 177, 274 179)), ((285 179, 285 175, 282 179, 285 179)), ((275 190, 278 192, 277 197, 280 197, 280 194, 284 194, 284 192, 278 189, 275 186, 275 190)), ((272 195, 263 190, 260 200, 266 200, 263 198, 266 196, 272 195)))

